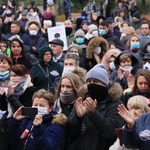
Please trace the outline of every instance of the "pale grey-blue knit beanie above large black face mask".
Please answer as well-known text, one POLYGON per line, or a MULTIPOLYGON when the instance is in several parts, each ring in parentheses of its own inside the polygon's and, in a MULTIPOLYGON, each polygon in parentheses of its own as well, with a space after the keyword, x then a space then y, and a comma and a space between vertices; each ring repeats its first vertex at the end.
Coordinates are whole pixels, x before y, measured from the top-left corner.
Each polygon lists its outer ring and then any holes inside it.
POLYGON ((108 73, 103 64, 97 64, 89 70, 86 74, 86 80, 89 78, 97 79, 105 85, 108 85, 109 82, 108 73))

